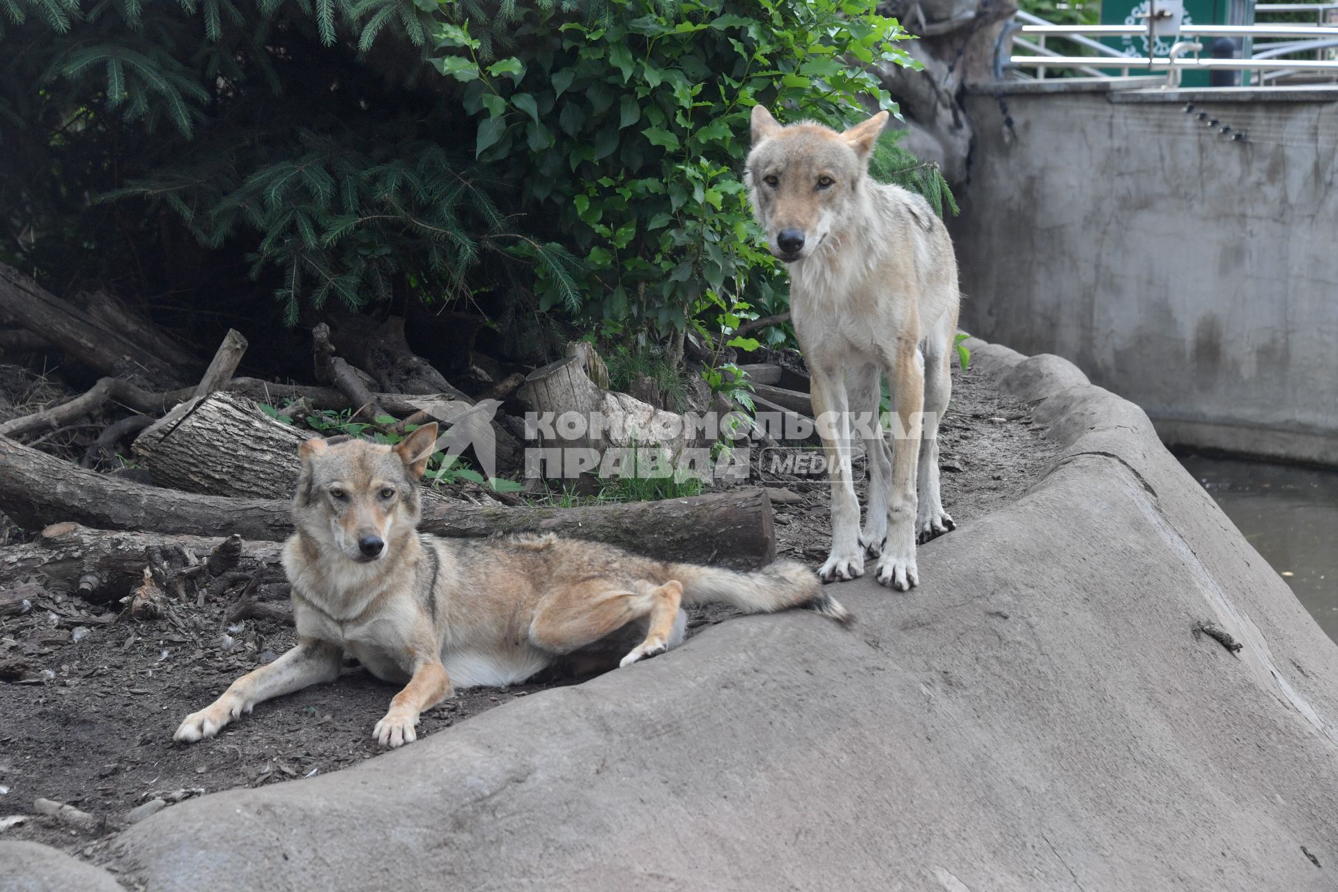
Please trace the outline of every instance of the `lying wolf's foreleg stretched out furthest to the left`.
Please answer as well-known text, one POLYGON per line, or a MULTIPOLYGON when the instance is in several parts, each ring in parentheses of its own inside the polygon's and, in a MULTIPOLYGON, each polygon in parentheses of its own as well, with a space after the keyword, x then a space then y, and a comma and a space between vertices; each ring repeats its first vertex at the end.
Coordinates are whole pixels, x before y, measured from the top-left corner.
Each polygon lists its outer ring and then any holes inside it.
POLYGON ((191 713, 173 734, 182 744, 213 737, 227 722, 249 713, 256 703, 273 697, 332 682, 339 678, 344 649, 324 641, 302 639, 296 647, 272 663, 246 673, 213 703, 191 713))

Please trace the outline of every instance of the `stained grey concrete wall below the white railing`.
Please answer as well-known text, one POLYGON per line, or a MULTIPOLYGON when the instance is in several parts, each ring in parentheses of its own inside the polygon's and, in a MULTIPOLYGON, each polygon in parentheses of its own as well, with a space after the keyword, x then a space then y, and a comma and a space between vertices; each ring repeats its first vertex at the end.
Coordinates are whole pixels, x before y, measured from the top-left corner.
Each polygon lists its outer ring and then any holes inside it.
POLYGON ((989 84, 967 111, 962 328, 1169 443, 1338 464, 1338 90, 989 84))

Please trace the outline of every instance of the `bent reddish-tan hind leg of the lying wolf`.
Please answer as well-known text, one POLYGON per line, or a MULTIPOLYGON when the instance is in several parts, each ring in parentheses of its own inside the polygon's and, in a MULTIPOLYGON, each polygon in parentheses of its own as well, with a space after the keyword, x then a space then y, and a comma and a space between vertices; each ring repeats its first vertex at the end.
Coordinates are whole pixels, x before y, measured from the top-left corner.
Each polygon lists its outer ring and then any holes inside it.
MULTIPOLYGON (((641 591, 628 591, 607 579, 589 579, 546 594, 530 621, 530 642, 554 654, 570 654, 593 645, 630 622, 646 619, 646 639, 628 658, 668 649, 682 599, 682 583, 670 580, 658 587, 645 583, 641 591)), ((626 659, 622 665, 636 662, 626 659)))

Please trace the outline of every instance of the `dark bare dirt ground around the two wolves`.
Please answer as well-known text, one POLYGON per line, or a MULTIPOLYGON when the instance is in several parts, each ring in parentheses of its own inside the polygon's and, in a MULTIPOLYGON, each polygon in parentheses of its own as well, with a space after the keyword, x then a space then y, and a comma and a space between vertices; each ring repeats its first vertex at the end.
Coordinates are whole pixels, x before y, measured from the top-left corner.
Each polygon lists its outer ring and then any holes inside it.
MULTIPOLYGON (((1054 455, 1028 408, 1002 400, 974 372, 958 377, 941 436, 945 504, 958 523, 1016 499, 1054 455)), ((830 546, 826 488, 789 483, 779 496, 780 554, 820 563, 830 546)), ((0 579, 0 587, 21 582, 0 579)), ((178 603, 175 622, 140 622, 115 612, 119 604, 43 594, 27 614, 0 619, 0 839, 96 856, 100 840, 151 800, 170 808, 207 792, 333 772, 380 752, 372 726, 395 687, 352 663, 336 682, 262 703, 214 740, 171 742, 187 713, 293 643, 292 629, 278 621, 227 629, 230 600, 178 603), (96 822, 71 826, 33 814, 39 797, 96 822), (4 829, 7 814, 25 820, 4 829)), ((690 626, 728 615, 698 610, 690 626)), ((575 681, 460 691, 423 715, 419 736, 575 681)))

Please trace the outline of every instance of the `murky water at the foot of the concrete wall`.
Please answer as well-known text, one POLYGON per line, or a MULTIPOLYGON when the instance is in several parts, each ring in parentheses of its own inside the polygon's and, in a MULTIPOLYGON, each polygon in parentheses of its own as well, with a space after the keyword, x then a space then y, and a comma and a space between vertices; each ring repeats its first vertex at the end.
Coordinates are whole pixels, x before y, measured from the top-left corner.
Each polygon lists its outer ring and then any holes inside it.
POLYGON ((1198 455, 1180 463, 1338 641, 1338 471, 1198 455))

